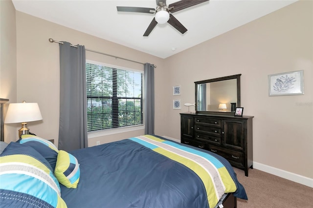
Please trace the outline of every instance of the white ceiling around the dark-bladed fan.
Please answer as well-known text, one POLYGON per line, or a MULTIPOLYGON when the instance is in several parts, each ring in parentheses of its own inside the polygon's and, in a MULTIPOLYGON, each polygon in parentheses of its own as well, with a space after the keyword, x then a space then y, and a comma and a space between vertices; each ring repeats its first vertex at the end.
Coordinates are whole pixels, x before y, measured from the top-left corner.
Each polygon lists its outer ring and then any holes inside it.
MULTIPOLYGON (((165 23, 157 24, 148 37, 143 34, 154 14, 117 12, 116 6, 156 8, 156 0, 12 1, 17 11, 167 58, 297 0, 209 0, 173 13, 188 29, 185 34, 165 23)), ((176 1, 167 0, 166 3, 176 1)))

